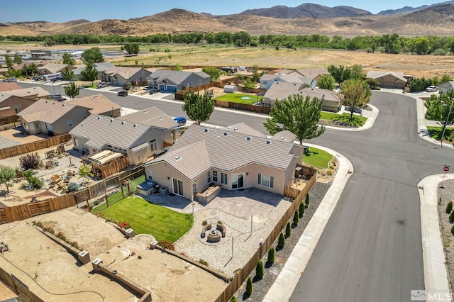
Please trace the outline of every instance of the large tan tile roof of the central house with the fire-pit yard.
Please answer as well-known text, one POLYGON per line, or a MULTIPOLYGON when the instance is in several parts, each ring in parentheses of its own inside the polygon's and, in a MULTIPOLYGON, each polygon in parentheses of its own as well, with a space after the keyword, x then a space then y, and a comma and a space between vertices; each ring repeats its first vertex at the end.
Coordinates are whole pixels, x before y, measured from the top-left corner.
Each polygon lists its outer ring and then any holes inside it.
POLYGON ((293 142, 191 125, 165 155, 149 164, 165 161, 188 179, 210 167, 232 171, 257 163, 287 169, 294 157, 292 146, 293 142))

